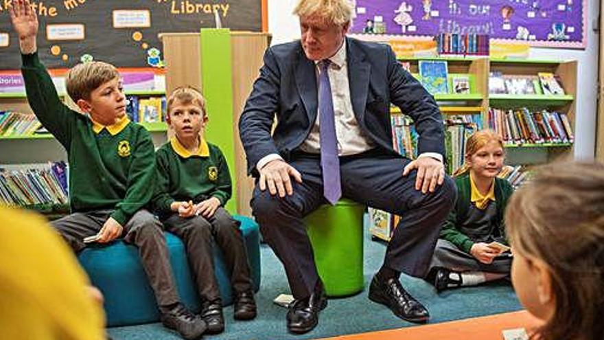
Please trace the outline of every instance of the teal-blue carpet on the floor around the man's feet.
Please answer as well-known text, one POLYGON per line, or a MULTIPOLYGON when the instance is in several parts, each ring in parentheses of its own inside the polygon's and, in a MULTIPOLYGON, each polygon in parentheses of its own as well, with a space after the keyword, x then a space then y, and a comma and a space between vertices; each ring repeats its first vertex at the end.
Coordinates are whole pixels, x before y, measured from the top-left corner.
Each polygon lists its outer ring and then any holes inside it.
MULTIPOLYGON (((367 287, 373 273, 382 264, 386 246, 383 242, 371 240, 367 228, 365 230, 366 289, 352 297, 330 299, 327 308, 321 313, 318 327, 312 332, 298 336, 287 332, 286 308, 272 303, 272 299, 279 293, 289 293, 286 275, 281 262, 277 260, 272 250, 262 245, 262 284, 256 295, 258 317, 253 321, 234 321, 233 308, 229 306, 224 309, 226 330, 220 335, 205 336, 205 339, 315 339, 414 326, 395 317, 386 307, 367 299, 367 287)), ((432 324, 511 312, 522 308, 507 282, 460 288, 437 295, 434 288, 423 280, 403 275, 401 281, 405 288, 430 310, 432 324)), ((166 330, 161 324, 110 328, 108 333, 114 340, 181 339, 178 334, 166 330)))

